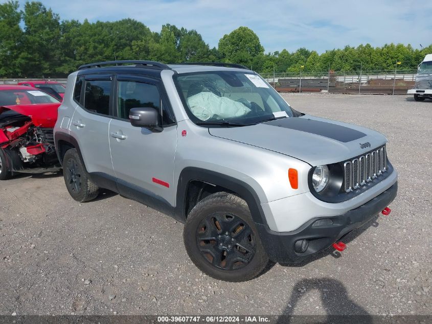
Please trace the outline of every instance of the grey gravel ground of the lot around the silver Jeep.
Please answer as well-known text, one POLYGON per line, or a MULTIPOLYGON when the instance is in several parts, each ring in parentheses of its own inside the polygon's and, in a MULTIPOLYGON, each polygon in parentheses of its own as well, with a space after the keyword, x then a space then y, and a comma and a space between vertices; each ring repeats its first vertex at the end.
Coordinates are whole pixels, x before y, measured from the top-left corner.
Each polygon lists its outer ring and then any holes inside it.
POLYGON ((389 217, 298 266, 246 283, 202 274, 183 225, 109 191, 79 204, 61 174, 0 185, 0 314, 432 314, 432 102, 286 94, 296 109, 389 139, 399 194, 389 217))

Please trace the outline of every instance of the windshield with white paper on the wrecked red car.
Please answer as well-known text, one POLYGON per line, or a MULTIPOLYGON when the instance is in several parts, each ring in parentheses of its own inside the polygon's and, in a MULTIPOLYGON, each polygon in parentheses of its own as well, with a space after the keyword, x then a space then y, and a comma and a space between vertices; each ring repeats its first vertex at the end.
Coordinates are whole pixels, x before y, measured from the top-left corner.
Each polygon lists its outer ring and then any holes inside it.
POLYGON ((10 106, 14 104, 32 103, 57 103, 54 97, 40 90, 2 90, 0 91, 0 105, 10 106))

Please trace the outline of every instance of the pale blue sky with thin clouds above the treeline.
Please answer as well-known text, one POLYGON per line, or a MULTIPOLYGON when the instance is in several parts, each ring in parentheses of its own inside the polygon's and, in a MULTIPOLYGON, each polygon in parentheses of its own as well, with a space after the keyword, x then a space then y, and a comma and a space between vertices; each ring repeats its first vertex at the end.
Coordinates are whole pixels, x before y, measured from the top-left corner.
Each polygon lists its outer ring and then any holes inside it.
MULTIPOLYGON (((0 0, 4 3, 5 0, 0 0)), ((162 25, 195 29, 210 47, 239 26, 251 28, 265 53, 305 47, 323 53, 369 43, 432 44, 432 1, 416 0, 42 0, 60 19, 133 18, 152 31, 162 25), (419 6, 420 5, 420 6, 419 6)), ((25 1, 19 0, 21 9, 25 1)))

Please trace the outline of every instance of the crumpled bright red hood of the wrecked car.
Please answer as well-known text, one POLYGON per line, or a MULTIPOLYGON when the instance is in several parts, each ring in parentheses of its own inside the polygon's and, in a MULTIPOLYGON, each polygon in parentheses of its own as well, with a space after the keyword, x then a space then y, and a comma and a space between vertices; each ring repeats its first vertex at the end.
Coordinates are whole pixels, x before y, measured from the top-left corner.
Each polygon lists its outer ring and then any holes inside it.
POLYGON ((0 106, 0 114, 6 109, 10 109, 21 115, 29 116, 35 126, 54 128, 57 121, 57 109, 60 104, 58 102, 0 106))

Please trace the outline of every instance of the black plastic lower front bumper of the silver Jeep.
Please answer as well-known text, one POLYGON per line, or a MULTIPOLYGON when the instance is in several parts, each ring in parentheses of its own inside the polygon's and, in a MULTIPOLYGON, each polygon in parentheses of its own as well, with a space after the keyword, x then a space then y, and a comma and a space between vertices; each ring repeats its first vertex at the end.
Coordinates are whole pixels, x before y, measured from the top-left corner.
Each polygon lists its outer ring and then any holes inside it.
MULTIPOLYGON (((387 207, 397 195, 397 182, 369 202, 334 217, 314 218, 291 232, 275 232, 267 225, 256 224, 261 241, 271 261, 297 263, 304 258, 330 247, 340 237, 370 221, 387 207), (316 221, 327 220, 327 225, 316 226, 316 221), (329 221, 332 224, 328 224, 329 221), (296 252, 297 241, 307 240, 304 252, 296 252)), ((298 244, 298 246, 301 244, 298 244)), ((298 250, 298 248, 297 248, 298 250)))

